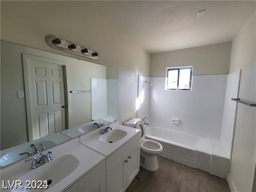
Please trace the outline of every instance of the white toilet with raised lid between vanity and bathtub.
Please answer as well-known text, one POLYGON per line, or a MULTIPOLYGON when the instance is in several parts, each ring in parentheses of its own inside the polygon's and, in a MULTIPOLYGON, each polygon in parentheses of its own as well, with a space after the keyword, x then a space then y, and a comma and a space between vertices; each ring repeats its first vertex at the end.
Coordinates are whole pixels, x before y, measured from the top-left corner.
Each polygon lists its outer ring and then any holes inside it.
POLYGON ((162 152, 163 146, 156 141, 145 139, 145 128, 140 119, 133 118, 125 122, 124 125, 141 130, 140 166, 150 171, 158 170, 156 156, 162 152))

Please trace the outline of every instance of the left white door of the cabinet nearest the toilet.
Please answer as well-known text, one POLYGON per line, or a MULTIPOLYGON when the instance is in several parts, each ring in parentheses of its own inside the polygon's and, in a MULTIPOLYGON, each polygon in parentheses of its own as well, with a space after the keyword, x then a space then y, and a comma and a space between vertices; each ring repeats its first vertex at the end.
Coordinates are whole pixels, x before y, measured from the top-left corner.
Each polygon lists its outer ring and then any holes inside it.
POLYGON ((107 170, 107 192, 124 192, 126 190, 127 163, 124 160, 126 154, 107 170))

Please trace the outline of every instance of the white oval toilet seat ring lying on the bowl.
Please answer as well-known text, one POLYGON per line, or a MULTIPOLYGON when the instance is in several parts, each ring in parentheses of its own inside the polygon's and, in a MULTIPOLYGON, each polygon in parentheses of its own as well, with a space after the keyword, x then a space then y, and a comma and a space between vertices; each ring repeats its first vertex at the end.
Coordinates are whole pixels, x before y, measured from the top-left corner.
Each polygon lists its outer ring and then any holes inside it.
POLYGON ((148 153, 159 154, 159 152, 162 152, 163 146, 156 141, 144 139, 140 143, 140 149, 148 153))

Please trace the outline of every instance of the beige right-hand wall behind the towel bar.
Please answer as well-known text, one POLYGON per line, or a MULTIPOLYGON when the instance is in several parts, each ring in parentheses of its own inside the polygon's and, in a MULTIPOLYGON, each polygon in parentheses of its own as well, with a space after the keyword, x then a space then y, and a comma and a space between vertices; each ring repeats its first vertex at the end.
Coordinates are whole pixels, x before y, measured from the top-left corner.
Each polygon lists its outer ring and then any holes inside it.
MULTIPOLYGON (((230 73, 242 69, 240 99, 256 103, 256 14, 232 42, 230 73)), ((252 191, 256 162, 256 107, 238 103, 230 178, 237 191, 252 191)))

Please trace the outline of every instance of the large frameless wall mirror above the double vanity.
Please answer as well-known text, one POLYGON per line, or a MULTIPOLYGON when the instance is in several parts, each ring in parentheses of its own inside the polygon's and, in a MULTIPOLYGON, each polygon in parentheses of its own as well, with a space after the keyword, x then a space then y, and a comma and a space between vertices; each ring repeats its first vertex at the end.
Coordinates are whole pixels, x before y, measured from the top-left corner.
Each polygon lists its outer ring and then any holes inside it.
POLYGON ((118 117, 118 69, 1 41, 1 167, 118 117))

